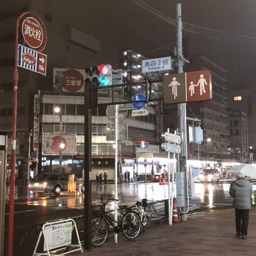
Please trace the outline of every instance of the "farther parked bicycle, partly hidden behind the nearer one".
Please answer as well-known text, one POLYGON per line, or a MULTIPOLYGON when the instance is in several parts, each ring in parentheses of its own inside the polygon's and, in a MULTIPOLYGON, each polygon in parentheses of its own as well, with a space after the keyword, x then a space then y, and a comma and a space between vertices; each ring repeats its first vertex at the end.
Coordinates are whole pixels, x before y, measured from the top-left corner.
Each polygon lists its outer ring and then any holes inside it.
POLYGON ((147 202, 147 198, 143 198, 141 202, 136 202, 136 212, 140 216, 140 221, 142 223, 142 227, 140 233, 148 228, 148 223, 150 223, 150 217, 148 216, 146 210, 151 210, 151 208, 156 212, 154 205, 147 202))

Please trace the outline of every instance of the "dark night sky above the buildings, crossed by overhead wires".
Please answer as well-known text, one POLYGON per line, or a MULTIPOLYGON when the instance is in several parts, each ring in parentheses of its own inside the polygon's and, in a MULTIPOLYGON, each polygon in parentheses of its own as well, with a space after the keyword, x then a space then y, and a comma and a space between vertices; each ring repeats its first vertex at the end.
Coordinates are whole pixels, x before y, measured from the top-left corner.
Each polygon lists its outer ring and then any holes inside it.
POLYGON ((119 3, 117 10, 125 39, 122 47, 149 58, 173 54, 173 20, 176 20, 176 4, 181 3, 184 58, 189 59, 189 54, 204 54, 228 71, 230 86, 255 85, 256 1, 110 0, 108 3, 119 3))

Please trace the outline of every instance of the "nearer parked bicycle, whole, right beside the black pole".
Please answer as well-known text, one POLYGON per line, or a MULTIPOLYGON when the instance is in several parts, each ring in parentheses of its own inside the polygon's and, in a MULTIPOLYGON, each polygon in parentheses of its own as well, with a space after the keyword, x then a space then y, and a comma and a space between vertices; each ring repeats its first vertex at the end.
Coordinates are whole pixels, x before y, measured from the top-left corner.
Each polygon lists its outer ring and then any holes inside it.
POLYGON ((98 216, 92 220, 93 246, 100 246, 106 241, 109 233, 109 225, 113 227, 115 233, 123 232, 124 236, 128 239, 136 238, 143 228, 140 216, 127 205, 119 206, 119 219, 118 221, 113 220, 108 212, 106 212, 106 205, 110 200, 113 202, 118 201, 113 198, 108 198, 104 201, 101 198, 101 205, 92 205, 92 211, 95 211, 97 208, 100 210, 98 216))

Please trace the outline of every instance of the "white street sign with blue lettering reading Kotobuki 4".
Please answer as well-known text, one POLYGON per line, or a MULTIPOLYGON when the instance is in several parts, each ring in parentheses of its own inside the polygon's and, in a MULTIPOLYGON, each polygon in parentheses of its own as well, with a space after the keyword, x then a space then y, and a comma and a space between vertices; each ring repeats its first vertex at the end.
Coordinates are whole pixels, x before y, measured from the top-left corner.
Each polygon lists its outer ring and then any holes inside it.
POLYGON ((163 57, 141 61, 141 73, 172 70, 172 58, 163 57))

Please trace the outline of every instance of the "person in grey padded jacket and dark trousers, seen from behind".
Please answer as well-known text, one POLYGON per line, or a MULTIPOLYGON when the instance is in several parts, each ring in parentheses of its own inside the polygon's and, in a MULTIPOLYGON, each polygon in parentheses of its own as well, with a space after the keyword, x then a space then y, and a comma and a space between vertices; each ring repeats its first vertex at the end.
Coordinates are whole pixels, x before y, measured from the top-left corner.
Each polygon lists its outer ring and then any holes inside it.
POLYGON ((231 183, 229 195, 234 198, 236 212, 236 236, 246 239, 251 209, 252 184, 244 179, 244 174, 237 173, 237 179, 231 183))

